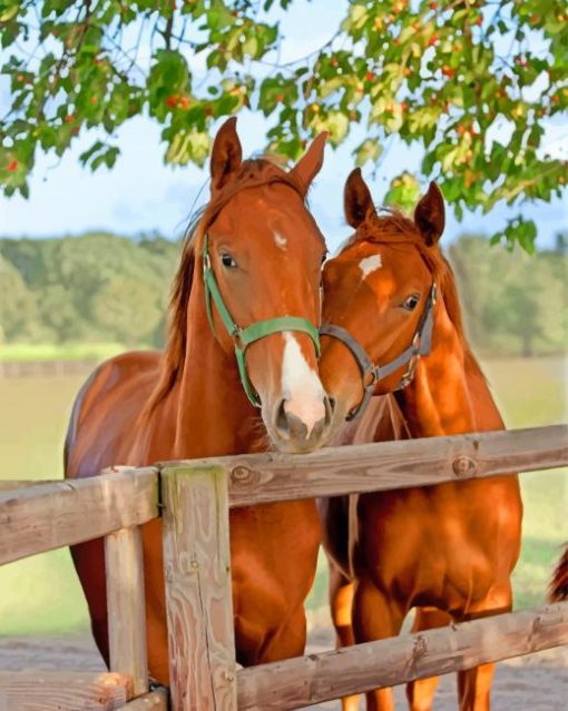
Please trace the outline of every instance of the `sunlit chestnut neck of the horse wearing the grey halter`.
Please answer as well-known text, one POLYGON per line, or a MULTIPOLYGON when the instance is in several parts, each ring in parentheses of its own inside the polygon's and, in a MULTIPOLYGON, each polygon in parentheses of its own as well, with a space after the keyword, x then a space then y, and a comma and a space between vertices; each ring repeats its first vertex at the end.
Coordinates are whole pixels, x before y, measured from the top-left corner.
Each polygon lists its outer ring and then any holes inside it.
POLYGON ((414 379, 396 399, 414 437, 503 428, 483 374, 443 299, 434 307, 430 355, 419 361, 414 379))

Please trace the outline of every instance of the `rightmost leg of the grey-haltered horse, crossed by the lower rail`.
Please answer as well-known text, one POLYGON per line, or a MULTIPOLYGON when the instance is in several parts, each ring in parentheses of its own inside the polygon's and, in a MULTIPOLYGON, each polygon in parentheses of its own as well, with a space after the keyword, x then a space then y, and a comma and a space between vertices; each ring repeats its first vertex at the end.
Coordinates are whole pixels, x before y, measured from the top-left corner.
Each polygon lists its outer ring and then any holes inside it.
MULTIPOLYGON (((508 582, 502 587, 493 587, 484 600, 468 605, 458 619, 460 621, 476 620, 491 614, 510 612, 511 608, 512 593, 508 582)), ((458 673, 460 711, 489 711, 493 674, 494 664, 482 664, 458 673)))

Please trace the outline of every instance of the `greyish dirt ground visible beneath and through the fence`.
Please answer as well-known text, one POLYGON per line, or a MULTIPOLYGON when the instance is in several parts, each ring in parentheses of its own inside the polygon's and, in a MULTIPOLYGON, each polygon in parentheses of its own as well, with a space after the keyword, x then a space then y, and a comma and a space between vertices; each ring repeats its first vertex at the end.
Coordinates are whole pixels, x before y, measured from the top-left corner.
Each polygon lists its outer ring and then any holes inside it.
MULTIPOLYGON (((311 634, 310 652, 332 648, 327 629, 311 634)), ((8 638, 0 639, 0 669, 51 671, 102 671, 104 665, 91 639, 8 638)), ((404 689, 395 689, 396 709, 407 708, 404 689)), ((339 701, 311 709, 340 711, 339 701)), ((435 697, 435 711, 457 711, 456 679, 443 677, 435 697)), ((566 711, 568 709, 568 648, 548 650, 502 662, 497 668, 492 711, 566 711)))

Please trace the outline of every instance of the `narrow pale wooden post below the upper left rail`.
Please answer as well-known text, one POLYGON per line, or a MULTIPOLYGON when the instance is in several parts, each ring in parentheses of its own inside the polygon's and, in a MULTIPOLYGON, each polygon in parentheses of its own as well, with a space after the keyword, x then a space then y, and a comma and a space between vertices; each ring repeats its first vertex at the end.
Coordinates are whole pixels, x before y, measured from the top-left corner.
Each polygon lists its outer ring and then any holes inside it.
POLYGON ((134 693, 148 691, 144 563, 139 526, 105 536, 110 671, 133 680, 134 693))

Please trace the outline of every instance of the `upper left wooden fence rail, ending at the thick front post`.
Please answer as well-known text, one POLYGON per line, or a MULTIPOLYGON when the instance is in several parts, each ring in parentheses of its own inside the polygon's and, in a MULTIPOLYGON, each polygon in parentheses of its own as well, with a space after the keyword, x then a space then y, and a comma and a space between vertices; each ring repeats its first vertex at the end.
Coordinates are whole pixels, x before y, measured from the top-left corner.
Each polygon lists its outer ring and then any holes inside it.
POLYGON ((0 492, 0 565, 158 515, 157 471, 130 470, 0 492))

